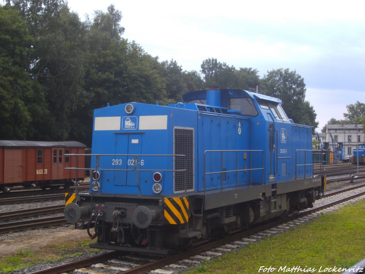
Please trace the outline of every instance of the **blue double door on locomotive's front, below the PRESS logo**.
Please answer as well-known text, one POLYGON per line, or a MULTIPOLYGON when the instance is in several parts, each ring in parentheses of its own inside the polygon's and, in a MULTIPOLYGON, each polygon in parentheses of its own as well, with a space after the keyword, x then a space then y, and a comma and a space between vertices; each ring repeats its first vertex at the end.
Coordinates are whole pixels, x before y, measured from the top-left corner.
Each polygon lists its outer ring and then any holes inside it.
MULTIPOLYGON (((141 154, 142 151, 142 135, 141 134, 118 134, 116 136, 115 154, 128 154, 128 156, 116 156, 114 166, 115 186, 137 186, 137 167, 135 165, 135 155, 141 154), (117 162, 117 160, 120 160, 117 162), (120 163, 120 165, 119 165, 120 163)), ((139 166, 141 165, 141 157, 139 157, 139 166)))

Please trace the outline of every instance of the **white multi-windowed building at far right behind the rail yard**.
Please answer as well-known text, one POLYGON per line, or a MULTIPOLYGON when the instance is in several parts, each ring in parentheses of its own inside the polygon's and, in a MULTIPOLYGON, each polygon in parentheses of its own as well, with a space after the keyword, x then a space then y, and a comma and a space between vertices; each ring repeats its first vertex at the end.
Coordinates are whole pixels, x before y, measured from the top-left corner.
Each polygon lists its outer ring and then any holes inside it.
POLYGON ((344 156, 352 156, 356 144, 365 144, 365 133, 362 126, 356 125, 326 125, 326 140, 330 151, 341 160, 344 156), (333 145, 332 145, 332 138, 333 145))

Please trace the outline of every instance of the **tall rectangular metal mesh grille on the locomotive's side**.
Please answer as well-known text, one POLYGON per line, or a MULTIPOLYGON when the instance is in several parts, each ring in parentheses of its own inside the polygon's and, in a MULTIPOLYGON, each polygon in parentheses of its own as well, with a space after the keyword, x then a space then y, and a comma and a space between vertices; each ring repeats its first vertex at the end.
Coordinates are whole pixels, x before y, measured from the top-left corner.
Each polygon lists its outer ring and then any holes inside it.
MULTIPOLYGON (((174 154, 186 155, 186 188, 194 190, 194 129, 174 128, 174 154)), ((185 169, 185 157, 174 157, 174 169, 185 169)), ((185 172, 174 172, 174 193, 185 191, 185 172)))

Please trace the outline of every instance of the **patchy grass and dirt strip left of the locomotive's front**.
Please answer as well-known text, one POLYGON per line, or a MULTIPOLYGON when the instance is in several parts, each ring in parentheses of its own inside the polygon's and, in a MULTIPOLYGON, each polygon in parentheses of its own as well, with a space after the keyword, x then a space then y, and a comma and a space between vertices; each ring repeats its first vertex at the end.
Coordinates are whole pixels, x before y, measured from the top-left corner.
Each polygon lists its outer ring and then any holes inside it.
POLYGON ((16 251, 16 254, 0 256, 0 273, 11 273, 40 263, 62 261, 66 258, 73 258, 85 253, 94 252, 96 251, 95 249, 88 247, 88 244, 91 241, 92 240, 78 243, 54 244, 42 248, 42 250, 37 252, 31 250, 24 251, 23 248, 20 248, 16 251))

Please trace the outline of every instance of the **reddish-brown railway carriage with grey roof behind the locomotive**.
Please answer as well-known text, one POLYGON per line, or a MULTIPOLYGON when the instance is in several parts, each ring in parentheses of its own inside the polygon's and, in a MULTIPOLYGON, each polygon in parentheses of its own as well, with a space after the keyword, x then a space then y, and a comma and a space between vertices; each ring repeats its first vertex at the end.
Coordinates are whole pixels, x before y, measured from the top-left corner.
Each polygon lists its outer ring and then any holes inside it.
MULTIPOLYGON (((76 167, 75 157, 67 154, 85 154, 86 146, 80 142, 1 141, 0 190, 22 185, 51 189, 68 188, 75 181, 84 180, 84 171, 67 170, 76 167)), ((85 167, 84 156, 78 156, 77 168, 85 167)))

